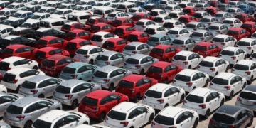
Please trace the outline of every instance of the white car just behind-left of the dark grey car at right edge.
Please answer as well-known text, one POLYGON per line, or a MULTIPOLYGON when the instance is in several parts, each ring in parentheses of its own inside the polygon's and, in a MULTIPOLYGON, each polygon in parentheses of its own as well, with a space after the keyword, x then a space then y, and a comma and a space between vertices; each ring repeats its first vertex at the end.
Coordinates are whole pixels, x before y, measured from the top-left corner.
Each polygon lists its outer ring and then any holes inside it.
POLYGON ((209 89, 222 92, 229 100, 247 85, 245 78, 234 73, 220 73, 210 82, 209 89))

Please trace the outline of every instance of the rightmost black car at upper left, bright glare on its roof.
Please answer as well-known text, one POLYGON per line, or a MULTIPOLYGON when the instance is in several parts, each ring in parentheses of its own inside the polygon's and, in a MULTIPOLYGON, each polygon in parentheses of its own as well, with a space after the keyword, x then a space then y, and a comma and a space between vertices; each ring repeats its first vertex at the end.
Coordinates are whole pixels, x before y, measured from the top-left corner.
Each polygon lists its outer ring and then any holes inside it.
POLYGON ((57 31, 51 28, 41 28, 41 29, 38 29, 36 33, 33 34, 33 38, 35 38, 36 40, 44 36, 55 36, 58 38, 65 38, 65 32, 57 31))

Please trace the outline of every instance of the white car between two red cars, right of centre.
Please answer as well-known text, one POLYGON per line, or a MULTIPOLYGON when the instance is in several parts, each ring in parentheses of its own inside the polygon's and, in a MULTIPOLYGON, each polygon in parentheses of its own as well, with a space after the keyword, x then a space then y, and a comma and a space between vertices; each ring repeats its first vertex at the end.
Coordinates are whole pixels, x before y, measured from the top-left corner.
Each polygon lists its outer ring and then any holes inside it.
POLYGON ((171 63, 174 63, 176 65, 180 65, 183 69, 184 68, 196 68, 198 63, 203 60, 202 55, 198 55, 198 53, 193 53, 191 51, 185 51, 182 50, 176 55, 174 55, 174 58, 171 60, 171 63))

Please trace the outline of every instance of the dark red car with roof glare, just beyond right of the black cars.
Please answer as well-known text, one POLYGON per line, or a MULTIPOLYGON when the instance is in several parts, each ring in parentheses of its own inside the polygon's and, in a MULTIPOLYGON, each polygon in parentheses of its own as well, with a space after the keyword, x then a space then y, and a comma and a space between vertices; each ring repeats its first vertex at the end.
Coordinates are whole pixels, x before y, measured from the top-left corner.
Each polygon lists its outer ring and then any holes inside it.
POLYGON ((85 31, 90 30, 90 26, 86 26, 85 24, 82 23, 77 23, 77 22, 70 22, 70 23, 65 23, 61 27, 61 31, 64 31, 65 33, 68 33, 69 31, 73 31, 75 29, 82 29, 85 31))

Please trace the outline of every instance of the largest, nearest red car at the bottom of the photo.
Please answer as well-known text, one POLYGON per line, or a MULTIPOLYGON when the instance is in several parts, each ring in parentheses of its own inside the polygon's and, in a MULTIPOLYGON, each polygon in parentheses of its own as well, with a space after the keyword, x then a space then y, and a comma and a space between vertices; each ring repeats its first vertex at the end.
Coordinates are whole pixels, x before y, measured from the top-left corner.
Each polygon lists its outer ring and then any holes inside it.
POLYGON ((87 94, 78 107, 78 112, 103 122, 106 114, 121 102, 129 102, 126 95, 107 90, 95 90, 87 94))

